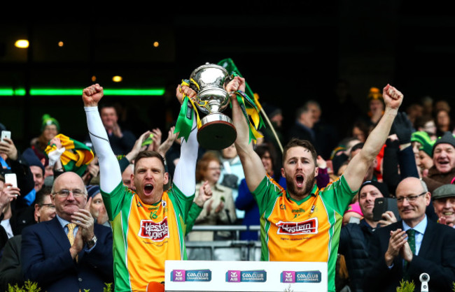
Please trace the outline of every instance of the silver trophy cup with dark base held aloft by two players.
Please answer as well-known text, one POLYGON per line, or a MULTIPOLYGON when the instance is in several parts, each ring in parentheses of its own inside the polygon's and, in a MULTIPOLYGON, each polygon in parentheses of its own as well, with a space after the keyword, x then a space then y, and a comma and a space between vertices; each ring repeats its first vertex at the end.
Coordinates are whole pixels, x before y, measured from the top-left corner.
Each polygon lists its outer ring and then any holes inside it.
POLYGON ((224 87, 231 78, 225 68, 206 63, 193 71, 190 87, 197 92, 197 108, 207 115, 201 119, 197 140, 205 149, 229 147, 237 138, 232 119, 221 112, 228 107, 229 94, 224 87))

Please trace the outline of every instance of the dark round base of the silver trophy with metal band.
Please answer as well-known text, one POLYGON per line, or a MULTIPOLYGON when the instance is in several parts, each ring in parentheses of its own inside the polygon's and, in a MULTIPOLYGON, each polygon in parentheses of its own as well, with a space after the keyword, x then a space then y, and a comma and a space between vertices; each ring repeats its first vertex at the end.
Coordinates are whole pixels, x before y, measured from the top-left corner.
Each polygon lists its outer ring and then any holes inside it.
POLYGON ((237 138, 237 131, 227 115, 212 113, 201 119, 202 126, 197 131, 197 141, 209 150, 229 147, 237 138))

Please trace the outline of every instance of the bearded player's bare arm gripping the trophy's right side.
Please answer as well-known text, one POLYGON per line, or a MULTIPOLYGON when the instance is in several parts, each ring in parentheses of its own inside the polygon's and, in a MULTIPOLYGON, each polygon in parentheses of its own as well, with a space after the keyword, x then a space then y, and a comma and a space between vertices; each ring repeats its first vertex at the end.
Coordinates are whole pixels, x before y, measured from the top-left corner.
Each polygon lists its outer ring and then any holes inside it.
MULTIPOLYGON (((236 90, 245 91, 245 79, 236 76, 234 80, 226 86, 227 92, 236 90)), ((248 189, 253 192, 264 179, 266 173, 262 161, 253 150, 253 143, 250 143, 250 134, 248 123, 241 111, 239 102, 236 97, 231 98, 232 102, 232 124, 237 130, 237 139, 235 140, 235 149, 240 157, 241 166, 244 168, 245 180, 248 189)))

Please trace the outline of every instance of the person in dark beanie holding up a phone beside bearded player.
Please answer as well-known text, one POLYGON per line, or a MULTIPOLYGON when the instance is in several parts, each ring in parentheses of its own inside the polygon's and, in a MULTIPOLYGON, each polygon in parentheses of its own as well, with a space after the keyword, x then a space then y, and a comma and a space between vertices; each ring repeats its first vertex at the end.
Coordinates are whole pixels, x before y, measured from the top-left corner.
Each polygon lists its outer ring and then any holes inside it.
POLYGON ((391 211, 382 214, 383 220, 373 221, 374 200, 388 197, 386 184, 374 180, 363 182, 358 190, 358 204, 363 214, 359 224, 347 224, 342 227, 339 236, 338 253, 343 254, 349 272, 352 291, 363 291, 363 277, 368 262, 368 247, 373 231, 376 228, 387 226, 397 219, 391 211))

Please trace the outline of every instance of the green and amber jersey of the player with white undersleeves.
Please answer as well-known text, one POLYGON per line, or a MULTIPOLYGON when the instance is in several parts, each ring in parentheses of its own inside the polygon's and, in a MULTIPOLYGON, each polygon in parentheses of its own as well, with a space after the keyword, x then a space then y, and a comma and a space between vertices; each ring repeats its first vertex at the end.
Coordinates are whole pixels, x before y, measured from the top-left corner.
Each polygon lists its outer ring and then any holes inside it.
POLYGON ((155 205, 147 205, 120 182, 102 191, 113 229, 116 291, 146 291, 149 282, 165 281, 165 261, 185 260, 185 219, 193 196, 173 185, 155 205))

